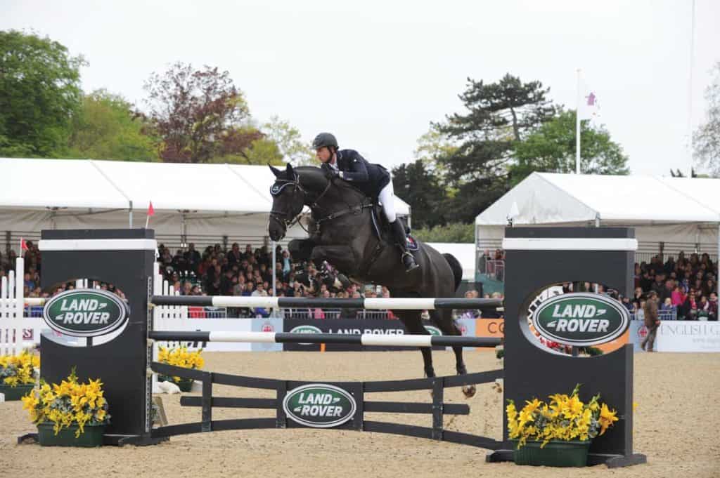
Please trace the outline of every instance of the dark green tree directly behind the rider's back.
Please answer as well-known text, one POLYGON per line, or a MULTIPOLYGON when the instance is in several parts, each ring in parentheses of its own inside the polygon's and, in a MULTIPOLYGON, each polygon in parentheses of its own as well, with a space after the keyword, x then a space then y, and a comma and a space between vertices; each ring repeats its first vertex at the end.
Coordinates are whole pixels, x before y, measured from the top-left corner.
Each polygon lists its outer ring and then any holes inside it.
POLYGON ((422 160, 392 170, 395 194, 410 205, 414 227, 433 227, 444 223, 445 189, 422 160))

